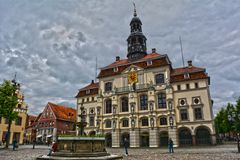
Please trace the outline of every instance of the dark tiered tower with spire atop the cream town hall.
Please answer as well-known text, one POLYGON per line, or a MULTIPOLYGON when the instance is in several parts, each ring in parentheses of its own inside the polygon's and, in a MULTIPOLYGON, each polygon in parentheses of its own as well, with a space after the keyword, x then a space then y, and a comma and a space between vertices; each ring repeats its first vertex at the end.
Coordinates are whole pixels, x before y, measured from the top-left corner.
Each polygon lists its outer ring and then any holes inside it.
POLYGON ((147 38, 142 33, 142 22, 137 17, 136 8, 134 5, 134 14, 130 22, 131 33, 127 39, 128 42, 128 60, 134 61, 143 58, 147 55, 147 38))

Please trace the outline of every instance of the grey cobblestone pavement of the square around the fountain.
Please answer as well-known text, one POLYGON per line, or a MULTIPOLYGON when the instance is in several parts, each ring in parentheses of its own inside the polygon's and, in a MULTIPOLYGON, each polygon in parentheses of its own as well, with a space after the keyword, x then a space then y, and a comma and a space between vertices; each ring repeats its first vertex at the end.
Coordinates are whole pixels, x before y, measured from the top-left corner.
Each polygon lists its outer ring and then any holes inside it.
MULTIPOLYGON (((109 153, 123 155, 124 160, 237 160, 236 145, 219 145, 206 147, 176 148, 174 154, 169 154, 167 148, 140 148, 129 149, 129 156, 124 155, 123 148, 108 148, 109 153)), ((0 160, 34 160, 37 156, 48 154, 47 146, 31 145, 20 146, 16 151, 0 150, 0 160)))

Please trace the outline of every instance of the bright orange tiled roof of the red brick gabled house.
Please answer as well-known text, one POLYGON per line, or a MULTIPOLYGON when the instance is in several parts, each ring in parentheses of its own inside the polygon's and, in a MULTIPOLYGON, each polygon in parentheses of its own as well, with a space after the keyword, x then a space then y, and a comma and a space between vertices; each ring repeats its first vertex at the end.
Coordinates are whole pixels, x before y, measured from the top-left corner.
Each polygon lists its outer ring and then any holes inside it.
POLYGON ((76 109, 48 102, 57 119, 65 121, 76 121, 76 109), (71 117, 71 118, 69 118, 71 117))

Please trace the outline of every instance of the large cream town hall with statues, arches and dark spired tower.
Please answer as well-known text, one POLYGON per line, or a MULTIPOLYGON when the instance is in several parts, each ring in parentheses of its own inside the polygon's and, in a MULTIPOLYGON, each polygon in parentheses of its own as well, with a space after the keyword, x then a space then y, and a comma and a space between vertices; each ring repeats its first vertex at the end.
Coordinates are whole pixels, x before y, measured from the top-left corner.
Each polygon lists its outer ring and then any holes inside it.
MULTIPOLYGON (((108 146, 130 147, 215 144, 209 85, 204 68, 173 68, 168 55, 153 48, 147 53, 146 37, 136 10, 130 22, 127 59, 116 57, 101 68, 98 83, 79 90, 77 112, 84 106, 86 134, 100 133, 108 146)), ((78 120, 79 121, 79 120, 78 120)))

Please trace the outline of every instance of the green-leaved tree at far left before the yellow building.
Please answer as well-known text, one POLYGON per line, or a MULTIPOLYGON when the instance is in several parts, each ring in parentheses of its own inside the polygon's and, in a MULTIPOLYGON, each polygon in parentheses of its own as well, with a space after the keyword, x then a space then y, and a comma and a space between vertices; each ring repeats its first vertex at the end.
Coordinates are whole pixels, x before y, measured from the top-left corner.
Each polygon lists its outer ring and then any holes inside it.
POLYGON ((6 148, 9 145, 10 129, 12 121, 17 118, 18 113, 15 111, 18 103, 16 94, 17 83, 4 80, 0 85, 0 116, 6 118, 8 121, 7 134, 6 134, 6 148))

